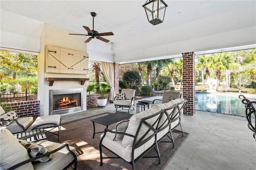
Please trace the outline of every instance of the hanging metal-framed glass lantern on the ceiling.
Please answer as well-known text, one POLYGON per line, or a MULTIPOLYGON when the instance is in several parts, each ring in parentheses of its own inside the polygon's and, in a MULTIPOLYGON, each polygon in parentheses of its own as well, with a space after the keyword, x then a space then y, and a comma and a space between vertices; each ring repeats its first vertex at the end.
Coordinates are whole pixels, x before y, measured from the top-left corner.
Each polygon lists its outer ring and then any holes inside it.
POLYGON ((147 0, 142 6, 150 24, 155 26, 164 22, 164 14, 168 5, 163 0, 147 0))

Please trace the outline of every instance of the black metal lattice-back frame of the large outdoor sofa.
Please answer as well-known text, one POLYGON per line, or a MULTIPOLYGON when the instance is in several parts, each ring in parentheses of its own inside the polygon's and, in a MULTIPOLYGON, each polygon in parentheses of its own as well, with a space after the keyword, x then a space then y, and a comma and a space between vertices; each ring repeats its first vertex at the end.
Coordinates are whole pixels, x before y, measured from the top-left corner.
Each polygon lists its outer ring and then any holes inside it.
MULTIPOLYGON (((165 138, 166 136, 168 136, 168 134, 171 135, 171 137, 169 137, 171 139, 170 142, 173 142, 173 137, 172 137, 172 134, 171 134, 171 129, 170 129, 170 124, 171 124, 171 116, 172 116, 172 113, 173 111, 175 110, 175 107, 177 107, 177 105, 175 105, 174 107, 170 108, 170 109, 173 109, 171 114, 169 115, 166 111, 169 110, 169 109, 166 109, 166 110, 162 110, 154 115, 151 115, 151 116, 148 116, 148 117, 145 117, 145 118, 142 118, 142 120, 140 121, 140 125, 138 127, 138 130, 135 134, 135 136, 131 135, 131 134, 127 134, 127 133, 124 133, 124 132, 114 132, 112 130, 109 130, 107 128, 105 128, 105 131, 104 131, 104 135, 102 136, 101 140, 100 140, 100 166, 103 165, 103 162, 102 162, 102 159, 104 158, 121 158, 120 156, 118 156, 116 153, 114 153, 112 150, 108 149, 106 146, 104 146, 102 144, 102 140, 104 139, 104 137, 106 136, 106 133, 107 132, 111 132, 111 133, 115 133, 115 134, 124 134, 124 135, 127 135, 127 136, 130 136, 132 138, 134 138, 134 141, 133 141, 133 144, 132 144, 132 161, 131 162, 128 162, 129 164, 132 165, 132 169, 135 170, 135 163, 140 160, 140 158, 158 158, 158 164, 160 164, 160 152, 159 152, 159 149, 158 149, 158 142, 161 142, 163 138, 165 138), (163 115, 166 115, 167 119, 166 121, 164 121, 161 125, 160 125, 160 120, 161 118, 163 117, 163 115), (146 120, 150 119, 150 118, 153 118, 153 117, 158 117, 156 119, 156 121, 150 125, 147 123, 146 120), (167 122, 167 123, 166 123, 167 122), (139 129, 142 127, 142 125, 146 125, 146 127, 148 127, 148 130, 147 132, 136 142, 137 138, 138 138, 138 133, 139 133, 139 129), (156 125, 156 126, 155 126, 156 125), (154 126, 156 128, 154 128, 154 126), (160 139, 157 140, 157 133, 164 130, 165 128, 169 127, 169 130, 166 134, 164 134, 164 136, 162 136, 160 139), (147 136, 149 134, 149 132, 153 132, 153 134, 151 134, 150 136, 147 136), (140 154, 140 156, 138 156, 137 158, 134 158, 134 150, 140 146, 142 146, 143 144, 145 144, 146 142, 148 142, 151 138, 155 138, 155 142, 154 144, 152 144, 149 148, 147 148, 144 152, 142 152, 142 154, 140 154), (113 154, 115 154, 116 156, 118 157, 102 157, 102 147, 109 150, 110 152, 112 152, 113 154), (157 153, 157 156, 144 156, 147 152, 149 152, 152 148, 154 148, 154 150, 156 151, 157 153)), ((124 159, 123 159, 124 160, 124 159)), ((124 160, 125 161, 125 160, 124 160)))

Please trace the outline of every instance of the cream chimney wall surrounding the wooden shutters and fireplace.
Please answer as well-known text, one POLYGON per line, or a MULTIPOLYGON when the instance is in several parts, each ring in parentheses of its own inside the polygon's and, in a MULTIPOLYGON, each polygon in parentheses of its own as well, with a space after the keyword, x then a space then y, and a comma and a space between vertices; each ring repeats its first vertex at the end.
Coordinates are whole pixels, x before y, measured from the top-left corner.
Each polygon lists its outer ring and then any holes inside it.
MULTIPOLYGON (((45 81, 46 77, 63 77, 63 78, 86 78, 86 75, 80 74, 60 74, 46 73, 45 65, 45 47, 48 45, 73 49, 76 51, 86 52, 86 43, 80 43, 84 40, 84 36, 70 36, 69 33, 74 33, 63 28, 44 24, 42 35, 40 38, 40 53, 38 55, 38 100, 40 100, 40 116, 49 115, 49 90, 52 89, 84 89, 84 110, 86 110, 86 83, 81 85, 80 81, 54 81, 52 86, 45 81)), ((90 58, 90 55, 89 55, 90 58)))

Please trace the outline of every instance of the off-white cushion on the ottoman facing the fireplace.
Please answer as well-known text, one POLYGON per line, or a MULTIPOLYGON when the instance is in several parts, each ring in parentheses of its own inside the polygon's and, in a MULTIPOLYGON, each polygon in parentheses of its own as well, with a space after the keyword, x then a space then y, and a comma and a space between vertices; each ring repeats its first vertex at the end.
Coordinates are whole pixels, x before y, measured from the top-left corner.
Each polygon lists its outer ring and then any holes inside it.
POLYGON ((40 116, 36 118, 36 121, 31 125, 31 129, 34 128, 47 128, 49 126, 60 125, 60 115, 40 116), (43 125, 48 124, 48 125, 43 125), (38 125, 41 125, 37 127, 38 125))

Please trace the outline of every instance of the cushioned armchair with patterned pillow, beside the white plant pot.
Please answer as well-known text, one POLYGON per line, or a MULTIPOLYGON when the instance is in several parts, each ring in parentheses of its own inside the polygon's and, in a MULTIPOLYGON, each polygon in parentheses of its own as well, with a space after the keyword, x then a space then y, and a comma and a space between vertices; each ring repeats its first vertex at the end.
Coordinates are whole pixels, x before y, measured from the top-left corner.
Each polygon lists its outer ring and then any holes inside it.
POLYGON ((129 113, 131 109, 134 110, 134 98, 135 98, 135 90, 122 89, 121 93, 117 94, 114 97, 114 105, 116 108, 116 112, 124 109, 124 110, 128 110, 128 113, 129 113))

